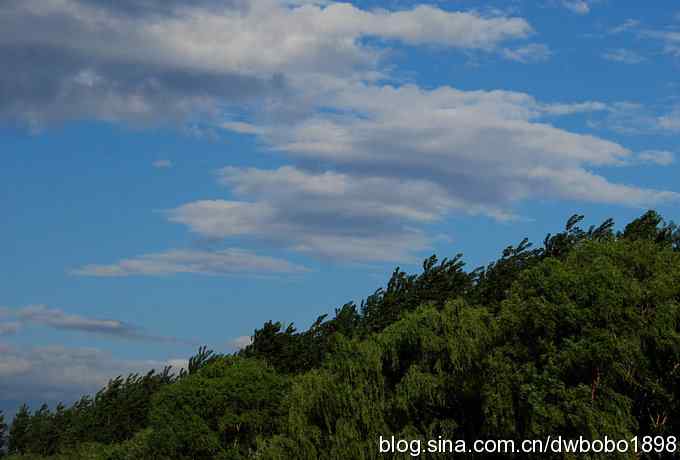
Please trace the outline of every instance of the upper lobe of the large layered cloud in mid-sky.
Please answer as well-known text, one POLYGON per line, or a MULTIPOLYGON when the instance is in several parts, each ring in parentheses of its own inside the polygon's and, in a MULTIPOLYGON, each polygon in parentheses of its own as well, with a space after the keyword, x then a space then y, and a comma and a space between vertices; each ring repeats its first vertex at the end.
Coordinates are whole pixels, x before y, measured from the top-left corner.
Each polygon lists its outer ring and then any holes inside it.
POLYGON ((448 169, 482 176, 501 158, 513 169, 527 161, 616 164, 630 154, 614 142, 541 122, 552 106, 524 93, 353 84, 319 100, 340 114, 315 113, 270 127, 274 148, 337 164, 417 166, 419 172, 426 166, 434 174, 448 169), (473 164, 478 167, 470 170, 473 164))

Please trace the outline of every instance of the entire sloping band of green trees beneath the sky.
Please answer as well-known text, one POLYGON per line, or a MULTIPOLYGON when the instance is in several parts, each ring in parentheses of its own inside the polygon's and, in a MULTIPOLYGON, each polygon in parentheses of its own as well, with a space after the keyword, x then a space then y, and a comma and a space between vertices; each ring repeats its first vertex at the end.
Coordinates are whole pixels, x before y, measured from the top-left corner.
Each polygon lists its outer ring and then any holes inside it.
MULTIPOLYGON (((680 231, 654 211, 620 230, 582 219, 487 267, 457 255, 396 269, 359 305, 303 331, 267 322, 180 373, 23 406, 9 429, 0 418, 6 458, 377 459, 381 435, 680 437, 680 231)), ((578 456, 605 457, 641 458, 578 456)))

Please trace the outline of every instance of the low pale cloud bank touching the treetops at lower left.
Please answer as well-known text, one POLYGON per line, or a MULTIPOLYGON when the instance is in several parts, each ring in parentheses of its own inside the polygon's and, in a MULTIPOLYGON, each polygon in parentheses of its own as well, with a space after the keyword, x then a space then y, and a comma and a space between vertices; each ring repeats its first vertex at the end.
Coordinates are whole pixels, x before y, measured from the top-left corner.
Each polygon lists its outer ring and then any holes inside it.
MULTIPOLYGON (((71 403, 118 375, 161 370, 185 360, 121 360, 95 348, 0 346, 0 410, 11 414, 28 402, 71 403)), ((175 368, 175 371, 178 371, 175 368)))

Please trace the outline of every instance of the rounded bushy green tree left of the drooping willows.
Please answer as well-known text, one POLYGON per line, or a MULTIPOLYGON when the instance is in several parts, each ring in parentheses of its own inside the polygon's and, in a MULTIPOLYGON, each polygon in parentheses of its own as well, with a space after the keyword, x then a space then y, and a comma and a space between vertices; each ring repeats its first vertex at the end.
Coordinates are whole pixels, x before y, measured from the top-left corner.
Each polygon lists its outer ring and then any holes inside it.
POLYGON ((287 388, 262 361, 220 357, 154 397, 150 445, 161 458, 245 458, 277 429, 287 388))

